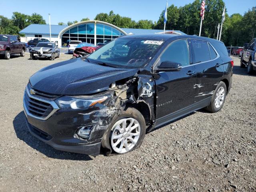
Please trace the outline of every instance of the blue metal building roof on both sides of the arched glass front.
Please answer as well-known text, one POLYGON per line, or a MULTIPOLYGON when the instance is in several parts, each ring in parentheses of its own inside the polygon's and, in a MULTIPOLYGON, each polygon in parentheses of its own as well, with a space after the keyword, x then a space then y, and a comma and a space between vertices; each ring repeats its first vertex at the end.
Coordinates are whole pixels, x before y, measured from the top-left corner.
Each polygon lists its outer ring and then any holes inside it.
MULTIPOLYGON (((67 25, 51 25, 51 32, 53 35, 58 35, 64 28, 68 27, 67 25)), ((164 30, 158 29, 132 29, 132 28, 121 28, 127 34, 154 34, 164 32, 164 30)), ((166 30, 172 31, 172 30, 166 30)), ((175 30, 180 34, 186 35, 185 33, 175 30)), ((20 34, 50 34, 49 25, 44 24, 31 24, 20 31, 20 34)))

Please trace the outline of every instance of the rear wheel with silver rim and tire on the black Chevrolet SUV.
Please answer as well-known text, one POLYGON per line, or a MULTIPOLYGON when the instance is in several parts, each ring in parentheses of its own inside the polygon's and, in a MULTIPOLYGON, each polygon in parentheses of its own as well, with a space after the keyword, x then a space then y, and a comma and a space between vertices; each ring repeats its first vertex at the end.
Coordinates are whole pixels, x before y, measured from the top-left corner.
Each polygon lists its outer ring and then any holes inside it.
POLYGON ((222 108, 226 100, 226 93, 226 84, 223 81, 221 81, 216 87, 214 93, 212 94, 210 104, 206 107, 206 110, 213 113, 218 112, 222 108))

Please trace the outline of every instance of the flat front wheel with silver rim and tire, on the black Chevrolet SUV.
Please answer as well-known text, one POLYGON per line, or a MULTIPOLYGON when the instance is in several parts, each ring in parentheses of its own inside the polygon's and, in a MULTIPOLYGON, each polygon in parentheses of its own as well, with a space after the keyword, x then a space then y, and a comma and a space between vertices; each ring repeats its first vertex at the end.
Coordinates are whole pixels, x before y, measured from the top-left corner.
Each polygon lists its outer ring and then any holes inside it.
POLYGON ((142 144, 146 134, 146 122, 135 108, 127 108, 120 116, 115 116, 108 127, 108 141, 113 152, 124 154, 142 144))

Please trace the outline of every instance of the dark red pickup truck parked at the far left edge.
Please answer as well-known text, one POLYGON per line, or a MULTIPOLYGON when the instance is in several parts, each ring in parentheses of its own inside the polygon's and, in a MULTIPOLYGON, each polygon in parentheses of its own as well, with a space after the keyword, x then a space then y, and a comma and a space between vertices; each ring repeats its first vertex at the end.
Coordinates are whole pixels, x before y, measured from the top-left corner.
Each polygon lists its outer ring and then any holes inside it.
POLYGON ((14 35, 0 35, 0 56, 10 59, 11 54, 25 56, 26 44, 19 42, 14 35))

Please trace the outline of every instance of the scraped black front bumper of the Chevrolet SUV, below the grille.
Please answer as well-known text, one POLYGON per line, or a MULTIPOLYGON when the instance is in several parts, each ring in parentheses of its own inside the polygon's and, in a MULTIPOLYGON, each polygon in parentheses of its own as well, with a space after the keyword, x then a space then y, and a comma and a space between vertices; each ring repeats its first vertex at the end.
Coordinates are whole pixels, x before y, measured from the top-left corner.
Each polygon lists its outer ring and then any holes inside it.
POLYGON ((111 116, 105 106, 98 104, 96 108, 58 110, 47 120, 40 120, 30 116, 24 104, 24 113, 30 133, 53 148, 96 156, 100 154, 102 136, 111 116), (88 139, 81 138, 77 134, 83 126, 92 127, 88 139))

